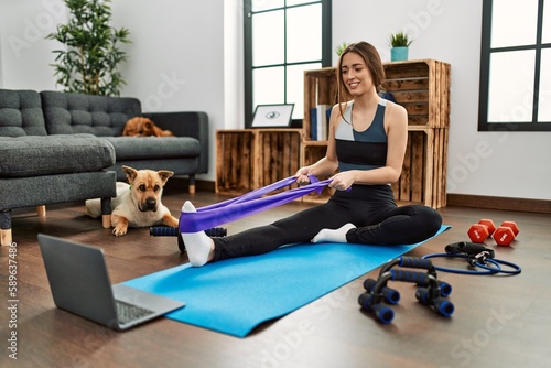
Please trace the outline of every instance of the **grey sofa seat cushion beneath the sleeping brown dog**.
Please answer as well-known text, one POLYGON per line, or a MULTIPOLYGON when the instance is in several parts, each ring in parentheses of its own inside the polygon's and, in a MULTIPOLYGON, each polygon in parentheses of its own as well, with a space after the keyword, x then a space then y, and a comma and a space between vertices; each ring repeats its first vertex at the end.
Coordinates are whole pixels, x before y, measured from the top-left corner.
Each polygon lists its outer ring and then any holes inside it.
POLYGON ((117 161, 196 158, 201 143, 191 137, 105 137, 114 147, 117 161))

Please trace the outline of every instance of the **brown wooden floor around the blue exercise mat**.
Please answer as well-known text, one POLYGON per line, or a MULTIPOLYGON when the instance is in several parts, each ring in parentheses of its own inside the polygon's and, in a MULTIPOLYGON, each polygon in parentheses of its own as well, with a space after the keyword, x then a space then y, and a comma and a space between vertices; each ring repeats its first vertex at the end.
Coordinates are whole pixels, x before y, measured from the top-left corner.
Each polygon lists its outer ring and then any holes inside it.
MULTIPOLYGON (((183 188, 183 187, 182 187, 183 188)), ((197 207, 226 197, 213 193, 165 191, 173 214, 185 199, 197 207)), ((291 203, 227 224, 229 234, 269 223, 305 208, 291 203)), ((45 232, 102 247, 114 283, 186 262, 175 238, 152 238, 131 229, 121 238, 84 215, 80 204, 48 206, 46 217, 17 210, 17 315, 7 309, 9 247, 0 249, 1 367, 551 367, 551 216, 472 208, 441 209, 452 228, 410 256, 443 252, 450 242, 467 240, 480 218, 515 220, 520 234, 512 247, 490 247, 496 258, 518 263, 515 277, 439 273, 452 284, 455 313, 439 316, 414 299, 414 286, 393 283, 402 295, 395 321, 381 325, 357 303, 363 281, 378 270, 320 300, 236 338, 160 318, 117 333, 64 311, 52 301, 36 234, 45 232), (15 317, 17 327, 10 326, 15 317), (17 332, 17 361, 8 332, 17 332)), ((436 264, 463 267, 460 260, 436 264)), ((9 305, 8 305, 9 306, 9 305)))

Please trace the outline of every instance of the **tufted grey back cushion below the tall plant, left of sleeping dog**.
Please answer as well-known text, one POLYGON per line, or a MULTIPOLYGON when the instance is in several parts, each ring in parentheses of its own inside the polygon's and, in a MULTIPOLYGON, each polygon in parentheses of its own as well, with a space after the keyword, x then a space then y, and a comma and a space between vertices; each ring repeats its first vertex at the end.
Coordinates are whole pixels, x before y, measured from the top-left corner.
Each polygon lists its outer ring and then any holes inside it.
POLYGON ((136 98, 47 90, 40 95, 48 134, 120 136, 128 119, 141 116, 136 98))

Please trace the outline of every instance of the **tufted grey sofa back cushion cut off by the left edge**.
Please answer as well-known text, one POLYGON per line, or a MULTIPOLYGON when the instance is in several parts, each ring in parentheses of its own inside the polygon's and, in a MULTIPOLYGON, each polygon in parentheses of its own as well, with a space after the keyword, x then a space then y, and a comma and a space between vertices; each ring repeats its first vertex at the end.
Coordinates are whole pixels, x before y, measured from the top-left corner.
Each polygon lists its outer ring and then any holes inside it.
POLYGON ((0 136, 46 136, 37 91, 0 89, 0 136))

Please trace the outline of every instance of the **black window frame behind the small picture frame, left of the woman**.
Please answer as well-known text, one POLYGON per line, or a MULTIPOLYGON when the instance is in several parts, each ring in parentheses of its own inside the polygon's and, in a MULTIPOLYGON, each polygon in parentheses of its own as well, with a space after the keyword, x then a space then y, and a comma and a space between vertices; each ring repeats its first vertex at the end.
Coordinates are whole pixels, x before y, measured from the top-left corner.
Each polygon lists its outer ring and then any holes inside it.
MULTIPOLYGON (((287 76, 287 67, 288 66, 293 66, 293 65, 301 65, 301 64, 311 64, 311 63, 321 63, 322 67, 331 66, 333 63, 333 50, 332 50, 332 0, 315 0, 315 1, 309 1, 304 2, 301 4, 296 6, 287 6, 287 0, 284 1, 283 7, 279 8, 273 8, 269 10, 262 10, 262 11, 257 11, 255 13, 263 13, 263 12, 270 12, 270 11, 277 11, 277 10, 285 10, 287 9, 292 9, 292 8, 299 8, 299 7, 304 7, 304 6, 311 6, 315 3, 321 3, 322 4, 322 58, 321 59, 310 59, 310 61, 303 61, 303 62, 295 62, 295 63, 288 63, 287 59, 281 63, 281 64, 271 64, 271 65, 262 65, 262 67, 273 67, 273 66, 283 66, 285 68, 285 76, 287 76)), ((244 89, 245 89, 245 128, 250 128, 252 123, 252 116, 255 112, 255 106, 252 106, 252 72, 255 67, 252 66, 252 4, 251 1, 244 1, 244 89)), ((287 17, 287 14, 285 14, 287 17)), ((285 34, 285 47, 287 47, 287 39, 288 34, 285 34)), ((285 88, 284 93, 285 96, 283 101, 285 104, 293 104, 293 101, 288 101, 287 100, 287 78, 284 80, 285 88)), ((302 119, 293 119, 292 127, 302 127, 302 119)))

